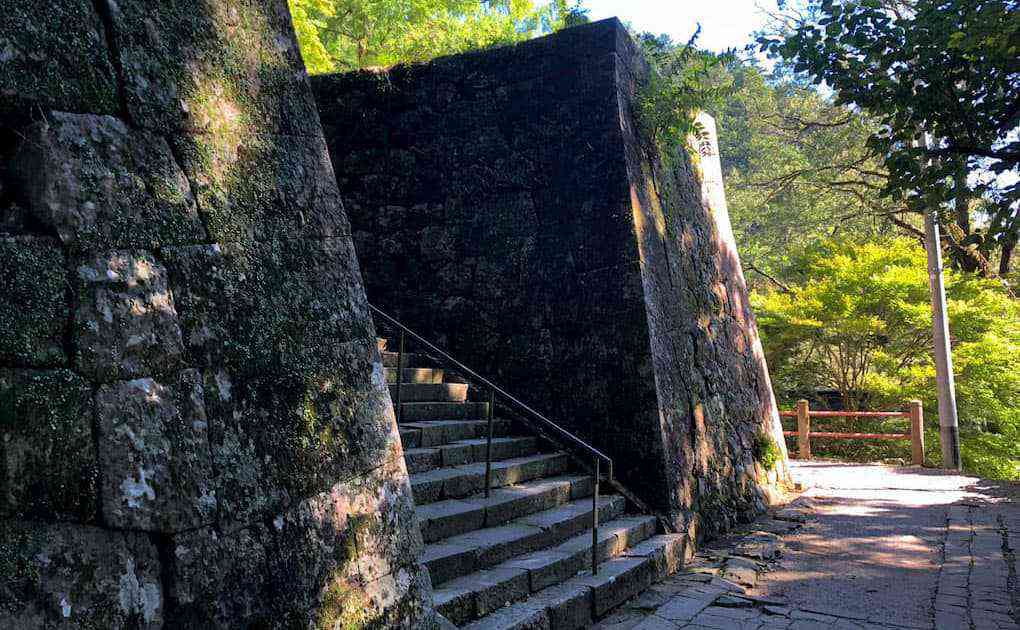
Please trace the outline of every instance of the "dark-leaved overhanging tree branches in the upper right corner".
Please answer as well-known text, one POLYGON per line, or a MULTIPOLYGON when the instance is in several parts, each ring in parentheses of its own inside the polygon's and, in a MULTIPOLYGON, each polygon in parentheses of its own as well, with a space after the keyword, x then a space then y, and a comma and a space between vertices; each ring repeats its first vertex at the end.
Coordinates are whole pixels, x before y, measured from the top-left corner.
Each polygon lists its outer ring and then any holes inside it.
POLYGON ((957 266, 1007 276, 1020 237, 1020 3, 809 0, 776 31, 763 50, 878 122, 868 146, 882 193, 940 209, 957 266))

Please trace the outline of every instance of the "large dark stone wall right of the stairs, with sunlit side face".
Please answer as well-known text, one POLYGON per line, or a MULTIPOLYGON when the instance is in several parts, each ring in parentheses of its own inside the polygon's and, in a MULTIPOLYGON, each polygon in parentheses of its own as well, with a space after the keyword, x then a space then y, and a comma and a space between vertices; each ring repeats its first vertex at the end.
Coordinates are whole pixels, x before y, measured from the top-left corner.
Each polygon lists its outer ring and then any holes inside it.
POLYGON ((762 509, 783 447, 724 202, 643 148, 645 72, 611 19, 312 88, 369 299, 698 536, 762 509))

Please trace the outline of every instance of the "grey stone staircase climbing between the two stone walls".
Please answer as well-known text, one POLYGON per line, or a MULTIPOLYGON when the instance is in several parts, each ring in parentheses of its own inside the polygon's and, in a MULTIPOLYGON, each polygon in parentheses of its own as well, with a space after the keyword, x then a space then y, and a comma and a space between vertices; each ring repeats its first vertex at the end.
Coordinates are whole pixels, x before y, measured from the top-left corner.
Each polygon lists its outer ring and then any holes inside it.
MULTIPOLYGON (((397 354, 379 340, 391 395, 397 354)), ((494 420, 493 489, 483 495, 488 403, 425 356, 405 353, 400 436, 436 607, 460 628, 591 625, 682 563, 682 537, 600 494, 592 575, 593 480, 523 426, 494 420)), ((603 485, 602 490, 608 488, 603 485)))

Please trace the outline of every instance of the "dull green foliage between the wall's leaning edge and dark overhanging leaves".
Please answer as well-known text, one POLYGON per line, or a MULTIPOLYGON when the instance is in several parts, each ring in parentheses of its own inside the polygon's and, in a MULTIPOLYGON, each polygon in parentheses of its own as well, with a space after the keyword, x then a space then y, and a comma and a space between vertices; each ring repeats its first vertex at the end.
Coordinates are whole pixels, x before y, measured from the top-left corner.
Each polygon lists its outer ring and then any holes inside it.
MULTIPOLYGON (((833 234, 873 237, 896 205, 879 195, 881 166, 866 147, 874 123, 811 86, 747 62, 714 69, 733 89, 713 110, 726 200, 754 285, 788 267, 797 245, 833 234)), ((779 280, 781 281, 781 279, 779 280)))

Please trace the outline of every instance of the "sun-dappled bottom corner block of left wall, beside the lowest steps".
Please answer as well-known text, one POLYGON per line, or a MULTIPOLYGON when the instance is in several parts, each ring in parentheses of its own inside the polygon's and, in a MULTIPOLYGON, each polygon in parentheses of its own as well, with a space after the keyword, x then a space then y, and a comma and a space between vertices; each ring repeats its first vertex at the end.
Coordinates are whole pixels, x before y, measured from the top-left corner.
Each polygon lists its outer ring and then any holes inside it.
POLYGON ((379 469, 272 521, 276 619, 315 627, 415 627, 430 591, 400 450, 379 469))

